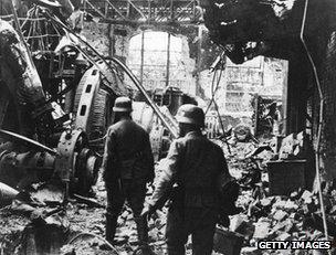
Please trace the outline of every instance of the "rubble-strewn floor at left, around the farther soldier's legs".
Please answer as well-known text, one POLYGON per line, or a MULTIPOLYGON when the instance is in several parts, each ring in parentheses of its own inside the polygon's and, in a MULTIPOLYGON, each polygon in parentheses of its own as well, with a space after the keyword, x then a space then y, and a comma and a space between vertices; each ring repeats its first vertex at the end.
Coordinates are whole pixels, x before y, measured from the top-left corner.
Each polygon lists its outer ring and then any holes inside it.
MULTIPOLYGON (((94 199, 71 198, 66 210, 61 210, 56 190, 44 189, 44 185, 34 188, 38 187, 42 189, 33 189, 30 194, 33 202, 18 198, 0 209, 0 251, 4 254, 20 254, 27 251, 38 251, 41 254, 57 251, 56 253, 62 255, 113 254, 103 238, 106 190, 102 179, 94 187, 94 199), (62 240, 41 244, 39 236, 41 231, 45 230, 54 240, 60 237, 62 240)), ((149 198, 154 189, 148 188, 149 198)), ((165 208, 157 212, 148 223, 150 246, 156 254, 165 254, 166 211, 165 208)), ((43 237, 46 238, 46 235, 43 237)), ((136 224, 127 204, 118 219, 115 241, 117 249, 115 254, 136 254, 138 248, 136 224)))

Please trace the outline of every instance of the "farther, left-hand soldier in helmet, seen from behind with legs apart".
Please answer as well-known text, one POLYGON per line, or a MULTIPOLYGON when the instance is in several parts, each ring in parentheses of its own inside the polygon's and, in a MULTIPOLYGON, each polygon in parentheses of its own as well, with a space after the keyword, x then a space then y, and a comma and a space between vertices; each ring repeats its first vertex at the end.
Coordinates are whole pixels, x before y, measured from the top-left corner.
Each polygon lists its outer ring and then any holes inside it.
POLYGON ((118 215, 127 200, 137 225, 140 251, 147 253, 148 226, 140 213, 146 183, 153 182, 155 177, 149 136, 132 120, 132 100, 128 97, 118 97, 113 110, 115 124, 107 130, 103 159, 107 191, 106 240, 113 242, 118 215))

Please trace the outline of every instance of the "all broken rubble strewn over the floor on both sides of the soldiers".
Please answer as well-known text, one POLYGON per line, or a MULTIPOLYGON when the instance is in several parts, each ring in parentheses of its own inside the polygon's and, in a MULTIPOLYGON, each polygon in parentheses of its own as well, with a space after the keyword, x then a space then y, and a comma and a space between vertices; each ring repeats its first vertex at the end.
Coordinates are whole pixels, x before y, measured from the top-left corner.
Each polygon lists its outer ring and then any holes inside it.
MULTIPOLYGON (((241 187, 237 201, 237 206, 241 208, 241 212, 230 216, 228 230, 243 236, 241 254, 262 254, 255 248, 255 242, 260 240, 300 241, 323 237, 323 223, 316 193, 302 189, 292 192, 290 196, 269 195, 265 161, 274 156, 272 151, 261 151, 259 149, 261 146, 255 141, 231 140, 229 142, 231 155, 227 151, 227 144, 221 146, 225 151, 230 172, 241 187)), ((159 163, 156 177, 160 174, 159 163)), ((154 187, 149 185, 147 198, 153 194, 153 191, 154 187)), ((21 194, 21 200, 17 198, 10 205, 0 210, 0 251, 18 254, 20 249, 27 251, 34 245, 39 246, 38 231, 42 226, 44 231, 49 227, 51 240, 57 240, 59 235, 63 235, 56 244, 52 244, 51 241, 49 251, 54 248, 61 251, 62 255, 114 254, 112 247, 103 238, 106 191, 102 179, 94 187, 93 193, 95 198, 80 195, 71 198, 66 211, 61 210, 61 195, 57 190, 45 190, 45 187, 36 185, 34 192, 31 192, 31 200, 27 200, 21 194), (34 238, 34 245, 31 243, 32 238, 34 238)), ((336 222, 336 191, 329 191, 324 194, 324 198, 329 235, 336 236, 334 224, 336 222)), ((167 208, 165 206, 148 222, 150 247, 156 254, 166 253, 166 215, 167 208)), ((118 219, 115 241, 114 248, 117 249, 115 254, 136 254, 138 245, 136 224, 127 204, 118 219)), ((264 251, 263 253, 306 254, 306 251, 300 251, 300 253, 264 251)), ((191 240, 187 244, 187 254, 191 254, 191 240)))

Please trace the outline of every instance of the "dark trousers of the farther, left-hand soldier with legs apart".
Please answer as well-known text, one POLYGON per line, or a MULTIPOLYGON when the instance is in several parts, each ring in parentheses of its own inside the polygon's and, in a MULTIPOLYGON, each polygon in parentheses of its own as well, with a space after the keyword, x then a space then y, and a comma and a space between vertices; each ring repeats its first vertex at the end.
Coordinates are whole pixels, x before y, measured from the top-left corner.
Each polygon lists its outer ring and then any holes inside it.
MULTIPOLYGON (((138 240, 140 245, 148 242, 148 227, 146 219, 140 216, 144 209, 146 196, 146 181, 134 179, 120 179, 113 182, 106 182, 107 191, 107 224, 106 230, 109 231, 108 238, 114 238, 117 219, 120 214, 125 201, 128 202, 134 220, 137 225, 138 240)), ((108 232, 108 231, 106 231, 108 232)))

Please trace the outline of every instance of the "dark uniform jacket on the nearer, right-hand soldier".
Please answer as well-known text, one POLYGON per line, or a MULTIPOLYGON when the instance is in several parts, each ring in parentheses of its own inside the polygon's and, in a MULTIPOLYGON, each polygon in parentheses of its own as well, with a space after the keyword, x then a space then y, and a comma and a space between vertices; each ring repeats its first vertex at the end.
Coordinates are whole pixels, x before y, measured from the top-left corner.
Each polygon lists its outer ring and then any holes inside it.
POLYGON ((218 208, 219 181, 230 177, 222 149, 197 131, 171 144, 160 170, 151 200, 154 206, 178 184, 180 192, 172 200, 182 201, 183 206, 218 208))

